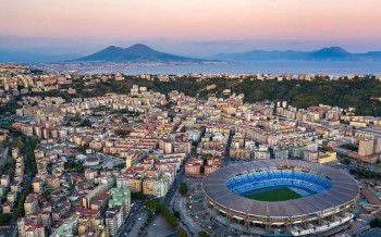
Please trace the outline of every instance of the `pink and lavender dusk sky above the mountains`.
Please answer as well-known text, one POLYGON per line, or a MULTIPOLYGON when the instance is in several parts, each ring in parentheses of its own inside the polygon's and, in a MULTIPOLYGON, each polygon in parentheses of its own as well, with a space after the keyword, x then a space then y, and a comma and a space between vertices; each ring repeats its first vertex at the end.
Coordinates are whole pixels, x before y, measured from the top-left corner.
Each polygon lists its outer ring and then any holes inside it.
POLYGON ((380 0, 0 0, 0 50, 381 50, 380 0))

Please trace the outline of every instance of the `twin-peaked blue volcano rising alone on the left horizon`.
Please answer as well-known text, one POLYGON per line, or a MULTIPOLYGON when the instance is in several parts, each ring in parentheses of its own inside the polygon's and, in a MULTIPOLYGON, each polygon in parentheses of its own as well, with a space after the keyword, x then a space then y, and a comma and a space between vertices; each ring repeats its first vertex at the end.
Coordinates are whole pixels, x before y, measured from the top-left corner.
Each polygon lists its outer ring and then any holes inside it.
POLYGON ((73 61, 106 61, 106 62, 198 62, 201 60, 159 52, 143 43, 136 43, 128 48, 110 46, 94 54, 79 58, 73 61))

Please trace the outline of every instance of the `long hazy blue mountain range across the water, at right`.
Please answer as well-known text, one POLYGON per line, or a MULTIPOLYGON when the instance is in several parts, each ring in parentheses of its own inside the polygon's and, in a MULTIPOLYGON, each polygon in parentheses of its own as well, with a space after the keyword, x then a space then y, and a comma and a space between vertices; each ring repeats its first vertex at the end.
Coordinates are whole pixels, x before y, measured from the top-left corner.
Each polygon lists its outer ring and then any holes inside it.
POLYGON ((317 51, 253 50, 242 53, 219 53, 211 59, 225 61, 381 61, 381 51, 351 53, 341 47, 323 48, 317 51))

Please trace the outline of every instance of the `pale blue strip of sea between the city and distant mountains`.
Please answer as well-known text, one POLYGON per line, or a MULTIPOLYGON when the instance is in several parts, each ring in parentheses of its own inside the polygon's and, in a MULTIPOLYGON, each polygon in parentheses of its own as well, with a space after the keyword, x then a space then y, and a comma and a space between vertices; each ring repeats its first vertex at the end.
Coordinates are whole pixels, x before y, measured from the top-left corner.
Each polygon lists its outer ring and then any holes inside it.
MULTIPOLYGON (((102 70, 89 73, 105 73, 102 70)), ((216 64, 171 65, 171 66, 139 66, 113 68, 125 74, 373 74, 381 75, 380 62, 336 62, 336 61, 258 61, 216 64)))

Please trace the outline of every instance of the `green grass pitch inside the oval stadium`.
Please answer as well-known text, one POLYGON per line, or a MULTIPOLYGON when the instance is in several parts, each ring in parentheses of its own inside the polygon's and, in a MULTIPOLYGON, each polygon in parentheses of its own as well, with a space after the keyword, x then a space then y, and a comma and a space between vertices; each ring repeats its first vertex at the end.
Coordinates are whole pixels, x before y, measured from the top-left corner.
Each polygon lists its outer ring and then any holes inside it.
POLYGON ((246 196, 246 198, 258 201, 285 201, 300 197, 303 196, 285 187, 246 196))

